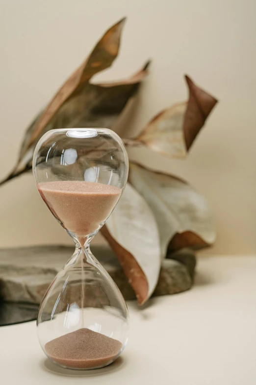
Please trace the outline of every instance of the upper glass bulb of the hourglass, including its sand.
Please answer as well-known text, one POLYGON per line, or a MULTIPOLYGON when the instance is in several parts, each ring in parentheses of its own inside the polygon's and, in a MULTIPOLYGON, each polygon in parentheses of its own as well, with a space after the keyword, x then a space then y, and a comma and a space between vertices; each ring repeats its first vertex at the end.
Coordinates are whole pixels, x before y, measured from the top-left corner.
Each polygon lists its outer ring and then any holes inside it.
POLYGON ((123 142, 111 130, 59 129, 39 141, 33 170, 41 197, 83 246, 118 202, 128 160, 123 142))

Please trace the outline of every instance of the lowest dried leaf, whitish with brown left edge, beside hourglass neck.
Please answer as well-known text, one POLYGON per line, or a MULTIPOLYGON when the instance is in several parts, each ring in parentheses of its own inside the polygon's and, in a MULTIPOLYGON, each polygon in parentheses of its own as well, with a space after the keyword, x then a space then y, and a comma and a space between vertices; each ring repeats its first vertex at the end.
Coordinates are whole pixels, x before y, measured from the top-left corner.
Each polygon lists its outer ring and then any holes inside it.
POLYGON ((144 303, 158 280, 159 236, 150 207, 129 184, 101 231, 115 251, 138 303, 144 303))

